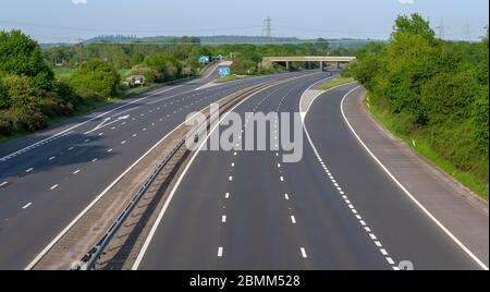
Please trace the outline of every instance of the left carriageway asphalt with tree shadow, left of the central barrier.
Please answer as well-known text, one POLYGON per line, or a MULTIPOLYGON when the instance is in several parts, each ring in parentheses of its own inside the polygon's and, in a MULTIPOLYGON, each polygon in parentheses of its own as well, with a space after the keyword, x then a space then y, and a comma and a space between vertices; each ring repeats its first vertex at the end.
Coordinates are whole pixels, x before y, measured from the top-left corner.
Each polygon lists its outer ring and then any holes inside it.
POLYGON ((210 72, 0 145, 0 269, 24 269, 187 113, 242 88, 306 73, 207 86, 217 76, 210 72))

